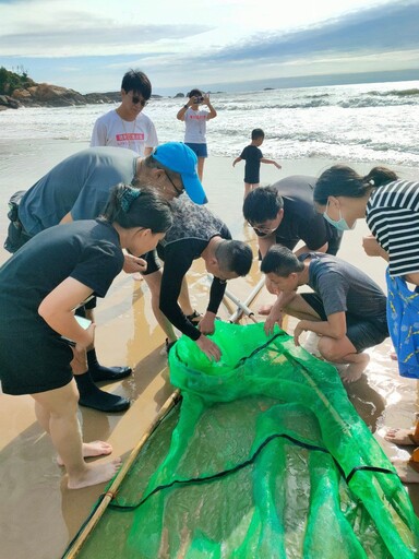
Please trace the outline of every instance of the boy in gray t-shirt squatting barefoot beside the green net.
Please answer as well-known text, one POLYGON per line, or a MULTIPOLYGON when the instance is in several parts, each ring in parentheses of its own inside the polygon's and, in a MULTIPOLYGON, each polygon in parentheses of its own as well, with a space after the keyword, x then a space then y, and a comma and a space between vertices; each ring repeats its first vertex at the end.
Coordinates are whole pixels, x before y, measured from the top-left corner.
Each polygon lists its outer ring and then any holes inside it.
MULTIPOLYGON (((272 247, 261 265, 266 285, 278 298, 265 322, 271 333, 282 313, 300 319, 295 344, 304 331, 320 337, 319 352, 333 365, 347 365, 340 373, 344 382, 361 377, 369 356, 368 347, 388 336, 386 298, 367 274, 331 254, 309 252, 297 257, 285 247, 272 247), (301 285, 314 293, 298 295, 301 285)), ((340 369, 340 368, 339 368, 340 369)))

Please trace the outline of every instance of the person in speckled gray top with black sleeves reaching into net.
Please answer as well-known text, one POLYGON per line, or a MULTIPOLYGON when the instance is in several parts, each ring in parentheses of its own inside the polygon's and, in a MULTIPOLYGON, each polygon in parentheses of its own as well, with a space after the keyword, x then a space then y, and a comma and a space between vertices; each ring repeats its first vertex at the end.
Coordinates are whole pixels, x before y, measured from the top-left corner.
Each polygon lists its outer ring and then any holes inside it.
POLYGON ((157 246, 164 261, 159 307, 171 324, 194 340, 210 359, 219 360, 218 346, 205 334, 214 332, 227 280, 248 274, 252 250, 246 242, 231 240, 227 226, 206 207, 179 199, 171 203, 171 210, 173 225, 157 246), (182 312, 178 298, 182 280, 197 258, 205 261, 214 278, 206 312, 196 329, 182 312))

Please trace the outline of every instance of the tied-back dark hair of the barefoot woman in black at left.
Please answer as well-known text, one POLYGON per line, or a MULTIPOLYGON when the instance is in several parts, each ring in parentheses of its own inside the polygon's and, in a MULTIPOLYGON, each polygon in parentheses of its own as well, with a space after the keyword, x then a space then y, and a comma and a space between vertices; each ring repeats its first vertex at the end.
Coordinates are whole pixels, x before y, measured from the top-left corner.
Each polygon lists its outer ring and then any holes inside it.
POLYGON ((166 233, 173 221, 169 203, 152 187, 139 189, 123 182, 110 190, 100 219, 124 229, 144 227, 152 233, 166 233))

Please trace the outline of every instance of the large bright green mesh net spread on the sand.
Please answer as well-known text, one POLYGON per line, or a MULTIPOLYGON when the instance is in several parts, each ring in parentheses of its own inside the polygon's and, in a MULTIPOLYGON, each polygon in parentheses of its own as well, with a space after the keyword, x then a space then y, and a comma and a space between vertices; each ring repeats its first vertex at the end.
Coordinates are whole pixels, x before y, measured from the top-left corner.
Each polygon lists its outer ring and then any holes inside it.
POLYGON ((77 557, 414 559, 419 521, 334 367, 263 324, 217 322, 223 358, 182 337, 182 401, 77 557))

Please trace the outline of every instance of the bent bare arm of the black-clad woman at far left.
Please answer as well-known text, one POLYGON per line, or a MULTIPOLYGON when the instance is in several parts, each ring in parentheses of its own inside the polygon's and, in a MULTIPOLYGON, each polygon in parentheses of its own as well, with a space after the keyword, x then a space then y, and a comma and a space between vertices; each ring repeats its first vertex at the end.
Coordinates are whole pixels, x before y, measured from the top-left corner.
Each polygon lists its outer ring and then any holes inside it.
POLYGON ((38 308, 39 316, 52 330, 73 340, 82 347, 93 343, 94 325, 84 330, 74 318, 74 308, 93 290, 73 277, 68 277, 50 292, 38 308), (93 326, 93 328, 92 328, 93 326))

